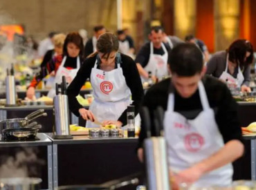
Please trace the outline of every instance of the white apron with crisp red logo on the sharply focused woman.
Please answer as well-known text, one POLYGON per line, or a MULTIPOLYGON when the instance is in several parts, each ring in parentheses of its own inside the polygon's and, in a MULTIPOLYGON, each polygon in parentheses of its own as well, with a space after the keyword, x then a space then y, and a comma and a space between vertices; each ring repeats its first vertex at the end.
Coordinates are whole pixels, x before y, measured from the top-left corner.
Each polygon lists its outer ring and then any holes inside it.
MULTIPOLYGON (((89 110, 95 115, 96 120, 117 121, 132 101, 131 91, 126 84, 120 67, 120 54, 117 53, 116 60, 118 68, 104 71, 97 68, 98 59, 91 70, 91 86, 93 88, 94 100, 89 110)), ((86 127, 99 127, 87 120, 86 127)))

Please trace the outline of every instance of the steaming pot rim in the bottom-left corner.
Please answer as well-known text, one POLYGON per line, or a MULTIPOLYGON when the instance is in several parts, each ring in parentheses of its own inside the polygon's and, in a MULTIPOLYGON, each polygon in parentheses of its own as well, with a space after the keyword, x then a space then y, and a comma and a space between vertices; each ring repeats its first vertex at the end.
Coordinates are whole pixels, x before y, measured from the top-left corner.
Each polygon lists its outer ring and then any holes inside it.
POLYGON ((40 189, 40 178, 0 178, 1 190, 37 190, 40 189))

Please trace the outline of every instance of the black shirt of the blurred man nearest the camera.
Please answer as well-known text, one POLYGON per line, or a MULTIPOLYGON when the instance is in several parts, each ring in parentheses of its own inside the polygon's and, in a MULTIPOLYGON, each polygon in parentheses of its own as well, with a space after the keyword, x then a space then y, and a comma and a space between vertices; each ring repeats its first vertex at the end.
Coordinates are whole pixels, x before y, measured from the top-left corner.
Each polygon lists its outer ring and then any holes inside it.
MULTIPOLYGON (((210 108, 214 110, 215 120, 219 127, 219 131, 223 136, 224 142, 230 140, 241 140, 241 128, 237 117, 237 103, 232 98, 226 84, 219 82, 214 77, 205 76, 202 79, 205 87, 206 95, 210 108)), ((155 135, 154 128, 154 110, 161 106, 164 111, 167 110, 168 95, 170 93, 171 80, 165 79, 162 82, 149 88, 145 95, 143 106, 149 108, 150 117, 152 119, 152 135, 155 135)), ((174 111, 181 113, 187 119, 194 119, 202 111, 199 90, 189 98, 183 98, 174 92, 174 111)), ((207 127, 207 123, 205 123, 207 127)), ((145 139, 145 126, 142 120, 139 144, 141 147, 145 139)))

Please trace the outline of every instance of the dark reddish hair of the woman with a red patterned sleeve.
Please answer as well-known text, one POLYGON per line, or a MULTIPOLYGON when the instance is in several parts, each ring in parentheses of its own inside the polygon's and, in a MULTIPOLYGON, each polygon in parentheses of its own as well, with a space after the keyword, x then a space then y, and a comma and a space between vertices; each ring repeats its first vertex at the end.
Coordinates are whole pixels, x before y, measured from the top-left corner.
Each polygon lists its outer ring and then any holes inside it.
POLYGON ((83 41, 82 41, 82 37, 79 35, 78 32, 70 32, 66 36, 66 39, 65 39, 64 45, 63 45, 63 55, 68 55, 68 50, 66 48, 68 46, 68 43, 75 44, 75 46, 77 46, 80 49, 79 56, 81 58, 83 58, 83 56, 84 56, 84 44, 83 44, 83 41))

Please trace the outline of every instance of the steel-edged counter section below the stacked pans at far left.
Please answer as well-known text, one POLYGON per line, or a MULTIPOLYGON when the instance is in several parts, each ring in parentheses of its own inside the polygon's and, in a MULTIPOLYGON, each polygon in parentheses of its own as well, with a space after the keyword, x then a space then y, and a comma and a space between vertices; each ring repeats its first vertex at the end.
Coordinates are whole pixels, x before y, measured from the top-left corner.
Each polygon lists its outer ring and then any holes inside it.
MULTIPOLYGON (((6 164, 8 158, 9 162, 13 164, 10 171, 13 173, 23 171, 21 172, 23 174, 19 173, 21 176, 17 177, 32 175, 42 178, 42 189, 53 189, 53 142, 44 133, 38 133, 35 141, 6 142, 0 140, 0 155, 1 158, 5 158, 0 160, 1 166, 6 164), (19 160, 19 164, 22 164, 22 169, 14 167, 17 160, 19 160), (29 174, 29 172, 31 173, 29 174)), ((8 173, 1 174, 2 177, 10 178, 8 173)))

